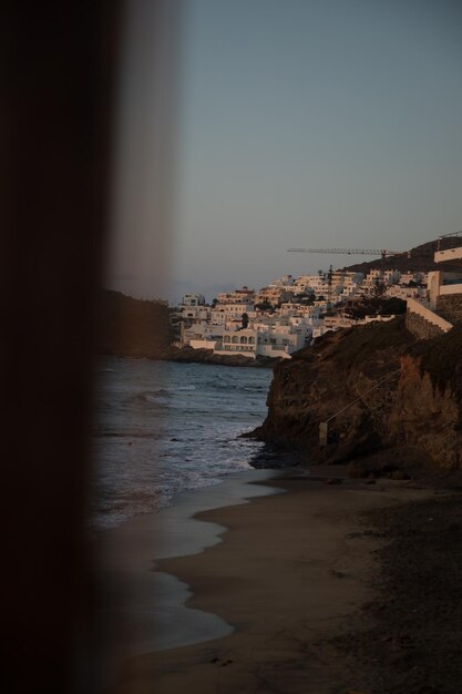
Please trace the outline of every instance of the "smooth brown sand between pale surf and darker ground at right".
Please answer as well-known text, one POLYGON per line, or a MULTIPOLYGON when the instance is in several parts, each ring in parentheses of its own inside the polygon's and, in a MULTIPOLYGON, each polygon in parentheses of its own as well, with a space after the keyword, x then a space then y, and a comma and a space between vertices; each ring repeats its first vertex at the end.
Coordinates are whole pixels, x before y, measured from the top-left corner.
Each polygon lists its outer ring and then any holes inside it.
POLYGON ((377 598, 374 552, 388 542, 365 530, 361 517, 434 491, 327 479, 273 479, 285 493, 199 513, 197 520, 222 527, 222 542, 164 559, 157 570, 187 583, 188 609, 218 615, 233 632, 127 659, 107 692, 359 691, 358 663, 333 641, 371 626, 361 608, 377 598))

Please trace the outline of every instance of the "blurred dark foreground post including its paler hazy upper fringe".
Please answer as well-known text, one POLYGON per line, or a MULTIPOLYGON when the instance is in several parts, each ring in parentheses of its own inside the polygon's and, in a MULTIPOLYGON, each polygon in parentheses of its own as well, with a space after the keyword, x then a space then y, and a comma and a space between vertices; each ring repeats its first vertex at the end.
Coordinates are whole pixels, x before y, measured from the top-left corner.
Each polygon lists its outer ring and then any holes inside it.
POLYGON ((146 290, 165 267, 179 7, 0 9, 1 652, 11 694, 91 694, 106 683, 88 537, 96 307, 103 277, 125 273, 146 290))

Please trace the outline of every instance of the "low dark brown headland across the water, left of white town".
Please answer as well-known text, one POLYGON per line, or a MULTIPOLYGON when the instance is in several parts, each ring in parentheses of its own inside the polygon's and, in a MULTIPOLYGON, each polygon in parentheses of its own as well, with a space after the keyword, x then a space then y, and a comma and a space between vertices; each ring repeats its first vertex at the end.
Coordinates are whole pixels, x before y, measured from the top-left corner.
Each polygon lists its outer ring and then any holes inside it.
POLYGON ((172 341, 166 304, 107 289, 101 293, 97 329, 99 351, 105 355, 155 359, 172 341))

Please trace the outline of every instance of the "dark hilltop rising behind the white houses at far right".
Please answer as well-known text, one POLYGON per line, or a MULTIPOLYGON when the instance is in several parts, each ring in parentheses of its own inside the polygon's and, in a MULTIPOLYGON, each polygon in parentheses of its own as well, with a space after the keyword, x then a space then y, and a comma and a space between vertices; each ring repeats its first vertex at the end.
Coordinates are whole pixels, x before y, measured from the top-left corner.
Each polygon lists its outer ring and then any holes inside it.
MULTIPOLYGON (((443 247, 451 247, 451 239, 446 242, 442 242, 443 247)), ((460 244, 462 244, 462 238, 460 238, 460 244)), ((389 258, 377 258, 374 261, 368 261, 365 263, 356 263, 355 265, 348 265, 347 267, 342 267, 341 269, 355 271, 358 273, 363 273, 365 275, 371 269, 399 269, 402 273, 414 272, 414 273, 428 273, 435 269, 444 269, 445 272, 460 272, 460 265, 449 265, 444 263, 444 268, 442 268, 441 264, 434 262, 434 252, 438 249, 438 241, 429 241, 420 246, 415 246, 415 248, 411 248, 410 257, 408 253, 400 253, 399 255, 393 255, 389 258)))

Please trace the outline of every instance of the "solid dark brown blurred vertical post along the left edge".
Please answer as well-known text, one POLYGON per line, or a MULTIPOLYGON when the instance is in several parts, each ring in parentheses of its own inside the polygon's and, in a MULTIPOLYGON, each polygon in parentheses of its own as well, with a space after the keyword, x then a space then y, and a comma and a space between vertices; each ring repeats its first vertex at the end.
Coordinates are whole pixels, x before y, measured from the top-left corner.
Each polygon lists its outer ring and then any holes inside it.
POLYGON ((120 9, 1 3, 1 678, 14 693, 97 678, 85 527, 120 9))

